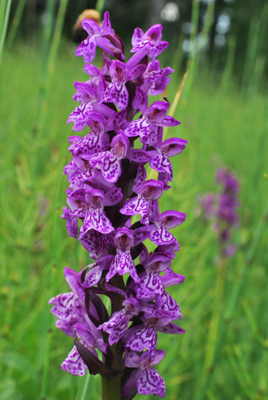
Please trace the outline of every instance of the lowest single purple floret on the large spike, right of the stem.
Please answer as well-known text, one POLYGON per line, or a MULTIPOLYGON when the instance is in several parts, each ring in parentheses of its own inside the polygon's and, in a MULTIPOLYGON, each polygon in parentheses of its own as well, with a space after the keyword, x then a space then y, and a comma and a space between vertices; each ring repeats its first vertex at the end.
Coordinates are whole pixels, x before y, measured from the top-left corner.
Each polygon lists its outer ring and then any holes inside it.
POLYGON ((153 354, 146 350, 141 356, 138 356, 135 351, 126 347, 125 365, 135 369, 123 388, 123 396, 127 396, 136 386, 139 394, 154 394, 164 397, 164 381, 154 368, 154 365, 158 364, 164 355, 165 352, 163 350, 155 350, 153 354))

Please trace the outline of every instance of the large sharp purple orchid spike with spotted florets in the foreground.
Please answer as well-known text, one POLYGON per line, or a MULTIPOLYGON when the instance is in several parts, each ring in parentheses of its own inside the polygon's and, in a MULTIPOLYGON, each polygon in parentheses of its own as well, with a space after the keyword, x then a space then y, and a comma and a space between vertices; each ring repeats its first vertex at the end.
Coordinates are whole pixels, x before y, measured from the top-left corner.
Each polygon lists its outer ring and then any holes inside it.
POLYGON ((62 218, 93 263, 80 272, 65 268, 70 292, 49 300, 56 326, 74 337, 61 368, 73 375, 86 369, 100 373, 103 400, 130 400, 136 392, 163 397, 164 382, 155 369, 165 354, 156 349, 158 332, 184 333, 174 323, 182 315, 167 291, 184 280, 170 267, 179 246, 169 230, 185 214, 160 212, 158 199, 172 181, 169 157, 187 143, 163 140, 163 127, 180 123, 166 114, 168 102, 148 105, 147 95, 163 92, 173 72, 155 59, 168 43, 161 40, 159 24, 145 33, 136 28, 133 55, 125 62, 108 12, 101 27, 90 19, 82 26, 88 37, 75 54, 83 56, 89 78, 74 82, 73 98, 80 104, 67 123, 73 122, 74 131, 90 129, 69 137, 72 159, 63 170, 69 187, 62 218), (91 64, 96 46, 103 50, 101 69, 91 64), (147 172, 158 172, 157 180, 146 178, 144 165, 147 172), (146 239, 155 245, 151 252, 146 239))

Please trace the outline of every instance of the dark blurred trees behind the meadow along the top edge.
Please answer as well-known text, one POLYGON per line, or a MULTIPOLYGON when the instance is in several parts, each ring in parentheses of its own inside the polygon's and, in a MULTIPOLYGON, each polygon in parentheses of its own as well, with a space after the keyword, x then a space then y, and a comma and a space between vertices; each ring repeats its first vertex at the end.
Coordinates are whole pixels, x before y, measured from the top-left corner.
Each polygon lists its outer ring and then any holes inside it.
MULTIPOLYGON (((18 29, 18 36, 22 40, 34 40, 39 37, 40 30, 45 24, 53 23, 47 12, 49 0, 13 0, 10 10, 9 30, 11 36, 14 26, 18 29), (18 11, 18 12, 17 12, 18 11)), ((199 8, 197 20, 197 32, 200 32, 206 14, 207 4, 210 0, 196 0, 199 8)), ((55 12, 60 1, 52 1, 55 12)), ((95 8, 96 0, 67 1, 66 12, 63 24, 63 34, 67 40, 71 40, 71 29, 78 15, 86 8, 95 8)), ((106 0, 103 1, 104 10, 109 11, 110 20, 115 32, 125 41, 130 42, 132 32, 136 26, 146 30, 153 23, 161 23, 163 36, 170 41, 173 51, 178 40, 189 39, 190 33, 186 33, 183 26, 190 22, 192 13, 192 1, 174 0, 178 7, 179 16, 174 21, 163 20, 161 10, 168 4, 168 0, 106 0)), ((229 42, 233 37, 237 38, 236 46, 233 49, 235 59, 235 74, 238 79, 242 76, 244 65, 247 63, 248 45, 254 40, 255 57, 253 57, 255 68, 261 73, 267 71, 266 43, 268 41, 268 4, 265 0, 215 0, 212 27, 209 31, 208 43, 203 55, 210 63, 217 63, 222 69, 225 65, 229 50, 229 42), (217 35, 217 23, 222 16, 227 15, 230 26, 222 34, 224 43, 222 46, 215 45, 217 35), (224 36, 224 37, 223 37, 224 36)), ((186 62, 187 53, 183 55, 186 62)), ((182 64, 182 68, 184 64, 182 64)), ((182 70, 181 70, 182 72, 182 70)), ((267 77, 267 74, 266 74, 267 77)))

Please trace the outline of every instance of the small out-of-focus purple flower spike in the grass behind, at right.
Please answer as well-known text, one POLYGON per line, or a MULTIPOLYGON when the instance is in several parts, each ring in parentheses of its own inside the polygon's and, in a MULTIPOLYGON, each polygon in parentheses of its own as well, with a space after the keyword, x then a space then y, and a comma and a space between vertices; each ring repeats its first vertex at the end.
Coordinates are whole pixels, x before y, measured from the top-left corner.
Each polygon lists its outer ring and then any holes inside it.
POLYGON ((230 257, 235 252, 235 244, 231 243, 231 229, 237 226, 238 221, 236 207, 239 184, 237 177, 224 168, 217 170, 216 183, 222 185, 222 191, 218 195, 200 195, 198 202, 202 206, 205 218, 216 220, 214 227, 221 254, 230 257))

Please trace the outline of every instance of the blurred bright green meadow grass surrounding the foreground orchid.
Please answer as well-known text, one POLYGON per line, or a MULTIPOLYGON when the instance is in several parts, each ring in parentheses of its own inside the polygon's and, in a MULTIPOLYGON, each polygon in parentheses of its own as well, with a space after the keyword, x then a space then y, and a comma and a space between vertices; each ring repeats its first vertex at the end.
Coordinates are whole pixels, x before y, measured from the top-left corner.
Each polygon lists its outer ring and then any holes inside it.
MULTIPOLYGON (((61 43, 47 75, 43 60, 37 45, 14 43, 1 65, 0 399, 97 400, 98 376, 86 381, 89 375, 60 369, 73 341, 54 327, 47 305, 68 291, 64 266, 90 263, 60 218, 73 81, 87 77, 70 43, 61 43)), ((189 76, 174 114, 181 125, 168 130, 188 140, 172 159, 172 189, 160 200, 161 210, 187 215, 172 231, 180 244, 172 268, 186 278, 169 290, 186 333, 158 335, 166 356, 157 369, 168 400, 268 399, 268 97, 223 78, 208 66, 189 76), (238 251, 222 267, 211 224, 196 212, 199 193, 219 190, 219 166, 240 181, 238 251)), ((165 93, 170 101, 180 81, 174 74, 165 93)))

